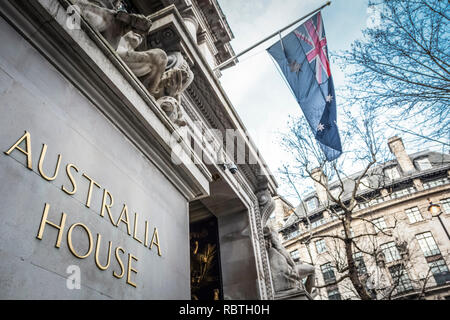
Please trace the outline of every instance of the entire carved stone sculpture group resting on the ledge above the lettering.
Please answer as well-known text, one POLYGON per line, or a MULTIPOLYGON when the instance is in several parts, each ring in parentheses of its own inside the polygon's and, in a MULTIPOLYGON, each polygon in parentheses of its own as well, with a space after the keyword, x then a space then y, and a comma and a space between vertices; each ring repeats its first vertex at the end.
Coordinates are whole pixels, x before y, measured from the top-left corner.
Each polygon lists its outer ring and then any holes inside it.
POLYGON ((143 15, 128 13, 122 1, 74 0, 74 3, 157 99, 169 119, 177 126, 186 126, 180 96, 194 80, 194 73, 183 55, 180 52, 167 55, 156 48, 136 51, 152 22, 143 15))

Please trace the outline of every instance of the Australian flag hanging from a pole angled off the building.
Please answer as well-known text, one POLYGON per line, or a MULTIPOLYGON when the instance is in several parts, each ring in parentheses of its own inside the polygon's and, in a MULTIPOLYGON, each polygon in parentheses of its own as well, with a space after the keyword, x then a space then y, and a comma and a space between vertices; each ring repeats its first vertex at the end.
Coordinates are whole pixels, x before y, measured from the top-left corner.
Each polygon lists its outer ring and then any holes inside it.
POLYGON ((320 12, 267 50, 279 64, 326 159, 337 159, 342 146, 320 12))

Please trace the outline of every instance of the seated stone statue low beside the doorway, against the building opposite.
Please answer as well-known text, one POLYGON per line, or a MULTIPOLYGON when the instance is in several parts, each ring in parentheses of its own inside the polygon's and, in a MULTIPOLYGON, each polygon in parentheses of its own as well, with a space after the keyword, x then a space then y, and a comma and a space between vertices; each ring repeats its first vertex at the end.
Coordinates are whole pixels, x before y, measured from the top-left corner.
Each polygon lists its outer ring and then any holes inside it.
POLYGON ((307 278, 305 290, 311 293, 315 284, 314 266, 306 263, 295 263, 281 244, 278 234, 270 227, 264 228, 264 236, 267 239, 267 252, 275 292, 281 293, 289 290, 302 290, 302 280, 307 278))

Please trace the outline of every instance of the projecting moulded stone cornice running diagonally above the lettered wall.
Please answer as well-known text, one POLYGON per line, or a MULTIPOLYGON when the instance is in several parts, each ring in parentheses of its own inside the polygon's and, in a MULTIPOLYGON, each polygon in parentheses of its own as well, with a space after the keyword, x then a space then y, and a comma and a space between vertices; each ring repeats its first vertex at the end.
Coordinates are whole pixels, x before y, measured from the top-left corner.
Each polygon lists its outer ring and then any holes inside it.
MULTIPOLYGON (((189 200, 209 194, 212 176, 203 164, 175 165, 176 128, 105 39, 82 22, 65 28, 66 0, 4 1, 1 15, 48 58, 189 200)), ((189 146, 183 150, 194 154, 189 146)))

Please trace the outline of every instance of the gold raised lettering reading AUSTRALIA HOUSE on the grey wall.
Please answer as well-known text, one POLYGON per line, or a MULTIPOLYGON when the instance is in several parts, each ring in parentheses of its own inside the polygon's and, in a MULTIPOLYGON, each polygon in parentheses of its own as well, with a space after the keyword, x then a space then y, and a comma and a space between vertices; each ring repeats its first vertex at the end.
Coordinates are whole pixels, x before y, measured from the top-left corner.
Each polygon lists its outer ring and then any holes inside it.
MULTIPOLYGON (((33 167, 32 167, 33 158, 32 158, 32 152, 31 152, 31 134, 28 131, 25 131, 25 134, 22 137, 20 137, 4 153, 7 156, 9 156, 15 150, 21 152, 22 154, 24 154, 26 156, 26 167, 30 170, 33 170, 33 167)), ((62 155, 58 154, 55 170, 52 173, 52 176, 48 176, 44 172, 44 163, 46 161, 47 150, 48 150, 48 146, 46 144, 43 144, 41 154, 39 157, 37 171, 43 179, 45 179, 47 181, 54 181, 58 177, 59 169, 61 166, 62 155)), ((61 185, 61 190, 65 194, 72 196, 78 192, 78 184, 77 184, 76 177, 77 177, 77 174, 81 173, 81 172, 82 171, 73 163, 68 163, 66 165, 66 175, 67 175, 68 180, 66 180, 66 183, 61 185)), ((102 187, 94 179, 89 177, 86 173, 83 173, 82 176, 89 181, 89 188, 87 191, 85 206, 87 208, 90 208, 94 186, 99 189, 101 189, 102 187)), ((126 204, 123 205, 120 216, 116 221, 113 217, 113 212, 112 212, 112 210, 114 210, 114 209, 112 209, 113 205, 114 205, 114 198, 113 198, 112 194, 106 188, 104 188, 102 205, 101 205, 101 209, 100 209, 100 216, 104 217, 105 211, 106 211, 108 213, 108 218, 114 227, 119 228, 121 223, 126 224, 126 226, 127 226, 126 230, 127 230, 128 236, 132 237, 134 240, 143 244, 145 247, 149 248, 150 250, 152 250, 153 246, 155 246, 157 248, 157 254, 159 256, 162 256, 161 245, 160 245, 160 240, 159 240, 159 235, 158 235, 158 229, 154 228, 153 236, 151 237, 151 240, 150 240, 150 234, 149 234, 150 224, 149 224, 149 222, 147 220, 141 221, 141 222, 145 222, 145 229, 144 229, 144 231, 142 231, 142 226, 140 227, 140 225, 139 225, 139 218, 140 218, 139 214, 135 213, 134 225, 133 225, 133 231, 132 231, 131 221, 130 221, 130 217, 129 217, 129 213, 128 213, 129 212, 128 206, 126 204), (143 234, 139 234, 139 232, 143 232, 143 234)), ((50 211, 50 204, 45 203, 36 238, 39 240, 42 240, 46 230, 47 230, 47 234, 48 234, 49 228, 57 229, 58 235, 56 237, 55 247, 60 248, 68 215, 66 213, 62 212, 60 222, 57 223, 53 219, 51 219, 51 220, 49 219, 49 211, 50 211), (48 228, 46 228, 46 227, 48 227, 48 228)), ((102 235, 100 233, 97 233, 97 241, 94 244, 94 239, 92 237, 91 230, 89 230, 89 228, 81 222, 71 225, 70 228, 68 229, 67 245, 68 245, 69 251, 75 257, 77 257, 79 259, 88 258, 92 254, 94 247, 95 247, 94 261, 95 261, 96 266, 102 271, 109 269, 109 267, 111 266, 111 255, 112 255, 112 250, 113 250, 112 241, 108 241, 108 243, 106 243, 106 241, 104 241, 104 243, 102 243, 102 235), (73 232, 77 228, 83 229, 81 231, 82 232, 84 231, 83 233, 85 233, 88 238, 88 248, 86 248, 85 253, 78 252, 82 249, 74 246, 74 243, 73 243, 73 232), (102 244, 103 244, 103 246, 102 246, 102 244), (103 252, 106 254, 106 256, 103 255, 103 252), (100 260, 102 260, 102 261, 100 261, 100 260)), ((83 248, 83 250, 84 250, 84 248, 83 248)), ((134 255, 132 255, 131 253, 126 253, 126 251, 120 246, 117 246, 115 248, 114 254, 115 254, 115 260, 117 261, 120 269, 113 270, 112 271, 113 276, 117 279, 126 278, 126 283, 128 285, 136 288, 137 287, 137 285, 135 283, 136 281, 132 280, 132 276, 133 276, 133 274, 137 275, 137 273, 138 273, 137 269, 135 268, 135 263, 138 262, 138 258, 135 257, 134 255), (128 255, 128 261, 124 260, 126 254, 128 255), (128 262, 128 265, 125 266, 124 262, 128 262)))

